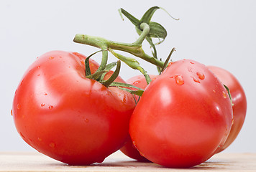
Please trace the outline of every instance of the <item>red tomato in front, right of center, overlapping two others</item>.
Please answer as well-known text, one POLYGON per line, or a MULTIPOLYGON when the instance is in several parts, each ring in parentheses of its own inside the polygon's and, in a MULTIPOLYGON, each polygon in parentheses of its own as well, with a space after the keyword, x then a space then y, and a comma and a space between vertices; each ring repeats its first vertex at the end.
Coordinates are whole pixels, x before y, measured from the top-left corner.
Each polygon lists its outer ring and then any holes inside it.
POLYGON ((227 94, 205 65, 188 59, 171 63, 147 86, 132 114, 129 134, 134 145, 162 166, 203 163, 229 134, 233 115, 227 94), (204 80, 196 72, 204 74, 204 80), (183 85, 175 81, 177 75, 183 85))

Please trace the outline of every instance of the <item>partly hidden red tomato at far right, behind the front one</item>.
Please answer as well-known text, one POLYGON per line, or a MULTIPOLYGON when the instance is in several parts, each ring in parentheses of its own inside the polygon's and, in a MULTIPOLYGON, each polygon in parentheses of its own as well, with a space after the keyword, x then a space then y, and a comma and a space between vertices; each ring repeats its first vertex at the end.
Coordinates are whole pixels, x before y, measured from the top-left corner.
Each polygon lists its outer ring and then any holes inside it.
POLYGON ((224 151, 229 145, 231 145, 235 138, 237 138, 237 135, 239 134, 242 125, 244 124, 247 111, 247 100, 242 85, 239 83, 237 78, 232 75, 232 73, 222 69, 221 67, 214 66, 209 66, 209 70, 214 72, 216 77, 218 77, 224 85, 229 87, 233 102, 232 108, 234 122, 226 142, 221 146, 221 148, 219 148, 218 152, 221 152, 224 151))

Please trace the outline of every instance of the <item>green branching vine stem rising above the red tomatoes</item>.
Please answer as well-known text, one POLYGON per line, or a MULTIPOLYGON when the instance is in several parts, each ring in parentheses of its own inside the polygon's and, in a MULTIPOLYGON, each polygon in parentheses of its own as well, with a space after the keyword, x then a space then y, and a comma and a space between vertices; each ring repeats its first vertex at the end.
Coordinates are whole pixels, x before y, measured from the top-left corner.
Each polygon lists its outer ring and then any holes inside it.
MULTIPOLYGON (((76 36, 73 39, 74 42, 81 43, 81 44, 88 44, 90 46, 100 48, 102 51, 101 65, 96 71, 96 74, 95 74, 96 76, 93 75, 94 78, 98 77, 98 75, 100 74, 101 74, 101 76, 99 76, 100 78, 104 77, 104 73, 101 73, 101 71, 103 70, 106 71, 106 64, 108 60, 108 51, 109 51, 116 58, 126 63, 129 67, 132 67, 132 69, 139 70, 140 72, 142 72, 142 74, 145 76, 147 84, 150 83, 151 80, 149 75, 147 75, 147 71, 145 71, 140 66, 140 63, 137 62, 136 59, 131 57, 125 57, 121 54, 118 54, 114 52, 114 49, 122 52, 128 52, 129 54, 132 54, 135 57, 140 57, 141 59, 144 59, 145 61, 150 62, 151 64, 157 66, 158 72, 160 73, 163 72, 163 70, 168 64, 170 55, 173 53, 174 49, 172 50, 172 52, 170 52, 169 57, 165 62, 163 62, 161 59, 160 60, 157 59, 157 50, 155 48, 155 44, 152 42, 152 38, 154 37, 159 39, 160 42, 158 42, 158 44, 160 44, 165 40, 165 37, 167 36, 167 31, 161 24, 158 24, 157 22, 151 22, 152 16, 155 13, 155 11, 157 11, 157 9, 162 9, 162 8, 158 6, 151 7, 145 12, 145 14, 142 16, 142 19, 140 20, 132 16, 132 14, 129 14, 129 12, 125 11, 124 9, 119 9, 119 14, 121 15, 121 17, 122 17, 122 14, 124 14, 124 16, 127 16, 129 21, 131 21, 132 24, 135 25, 136 31, 140 35, 140 37, 133 43, 114 42, 108 39, 104 39, 102 37, 93 37, 86 34, 76 34, 76 36), (142 42, 144 42, 145 39, 147 40, 147 42, 149 42, 150 46, 153 48, 153 52, 152 52, 153 57, 146 54, 142 49, 142 42), (104 51, 104 50, 108 50, 108 51, 104 51)), ((163 10, 165 11, 165 9, 163 10)), ((124 18, 122 17, 122 19, 124 18)), ((116 67, 116 73, 119 72, 118 67, 120 66, 118 65, 116 67)), ((87 73, 89 74, 91 73, 89 69, 87 73)), ((89 76, 91 77, 91 75, 89 76)), ((101 82, 102 80, 100 79, 98 81, 101 82)), ((109 82, 103 82, 103 83, 104 85, 109 86, 113 81, 111 81, 110 84, 109 82)))

